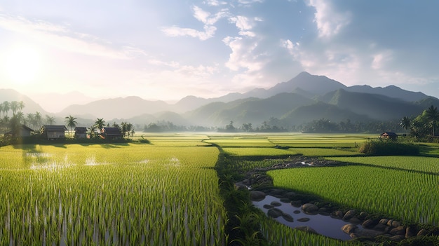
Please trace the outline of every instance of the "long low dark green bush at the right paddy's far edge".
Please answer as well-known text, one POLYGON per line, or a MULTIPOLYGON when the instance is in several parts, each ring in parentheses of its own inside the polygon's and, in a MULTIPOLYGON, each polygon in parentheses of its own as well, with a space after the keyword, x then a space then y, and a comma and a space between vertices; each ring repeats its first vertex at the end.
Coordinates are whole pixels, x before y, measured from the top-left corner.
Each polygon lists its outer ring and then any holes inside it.
POLYGON ((416 156, 419 155, 419 146, 380 139, 365 142, 359 151, 371 156, 416 156))

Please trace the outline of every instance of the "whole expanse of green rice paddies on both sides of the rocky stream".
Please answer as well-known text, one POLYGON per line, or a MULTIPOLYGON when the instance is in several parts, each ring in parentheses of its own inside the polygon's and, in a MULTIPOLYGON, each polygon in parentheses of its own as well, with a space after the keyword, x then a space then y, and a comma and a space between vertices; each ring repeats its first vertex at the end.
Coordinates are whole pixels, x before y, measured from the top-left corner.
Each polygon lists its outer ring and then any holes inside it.
MULTIPOLYGON (((375 135, 137 135, 119 144, 27 144, 0 148, 0 245, 227 245, 229 218, 215 170, 266 168, 291 156, 335 167, 267 172, 274 186, 439 224, 439 147, 425 156, 363 156, 375 135)), ((271 245, 349 245, 261 218, 271 245)), ((236 242, 235 242, 236 243, 236 242)))

